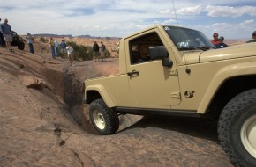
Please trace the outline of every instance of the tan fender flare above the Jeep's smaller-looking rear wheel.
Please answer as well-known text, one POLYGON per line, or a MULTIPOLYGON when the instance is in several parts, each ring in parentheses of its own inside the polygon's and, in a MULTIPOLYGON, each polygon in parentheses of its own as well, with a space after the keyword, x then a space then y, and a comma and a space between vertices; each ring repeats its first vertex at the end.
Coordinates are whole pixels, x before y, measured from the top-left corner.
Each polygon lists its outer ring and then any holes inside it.
POLYGON ((116 103, 114 103, 114 100, 111 98, 111 96, 109 96, 109 92, 103 87, 102 84, 94 84, 94 85, 87 86, 85 90, 86 96, 87 96, 87 91, 97 91, 101 95, 102 99, 104 100, 104 102, 108 107, 116 106, 116 103))

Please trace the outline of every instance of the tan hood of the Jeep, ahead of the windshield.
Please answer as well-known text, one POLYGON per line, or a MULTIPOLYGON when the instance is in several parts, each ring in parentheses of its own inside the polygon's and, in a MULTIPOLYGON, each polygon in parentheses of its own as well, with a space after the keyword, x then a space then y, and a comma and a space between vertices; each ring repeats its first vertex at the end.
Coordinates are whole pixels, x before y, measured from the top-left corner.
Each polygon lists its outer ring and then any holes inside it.
POLYGON ((245 43, 234 47, 186 53, 184 56, 186 64, 213 62, 227 59, 235 59, 239 57, 256 56, 256 42, 245 43))

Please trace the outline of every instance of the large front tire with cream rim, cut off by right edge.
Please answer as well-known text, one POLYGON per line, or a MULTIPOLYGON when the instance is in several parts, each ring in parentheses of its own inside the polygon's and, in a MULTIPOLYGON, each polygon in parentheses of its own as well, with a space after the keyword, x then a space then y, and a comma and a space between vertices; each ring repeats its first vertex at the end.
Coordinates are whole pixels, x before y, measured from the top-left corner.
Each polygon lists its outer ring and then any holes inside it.
POLYGON ((256 89, 238 94, 218 121, 222 149, 235 166, 256 166, 256 89))

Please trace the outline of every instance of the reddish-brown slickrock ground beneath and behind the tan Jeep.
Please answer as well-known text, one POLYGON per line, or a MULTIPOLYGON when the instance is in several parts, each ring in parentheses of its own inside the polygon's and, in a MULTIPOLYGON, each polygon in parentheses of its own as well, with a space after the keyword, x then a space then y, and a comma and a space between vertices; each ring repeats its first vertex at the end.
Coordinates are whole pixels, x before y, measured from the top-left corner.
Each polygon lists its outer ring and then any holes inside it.
POLYGON ((83 81, 118 72, 118 60, 75 62, 0 47, 0 166, 232 166, 214 123, 120 117, 117 134, 94 133, 83 81))

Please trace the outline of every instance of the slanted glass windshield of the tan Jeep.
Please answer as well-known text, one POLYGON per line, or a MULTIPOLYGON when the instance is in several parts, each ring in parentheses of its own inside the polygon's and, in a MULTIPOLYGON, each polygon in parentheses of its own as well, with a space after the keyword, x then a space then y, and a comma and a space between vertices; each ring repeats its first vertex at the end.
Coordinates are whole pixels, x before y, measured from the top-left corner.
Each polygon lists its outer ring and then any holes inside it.
POLYGON ((205 34, 199 31, 178 26, 164 26, 163 28, 180 51, 215 48, 205 34))

